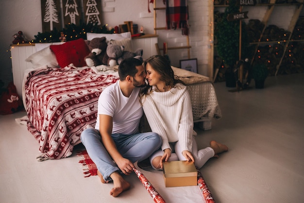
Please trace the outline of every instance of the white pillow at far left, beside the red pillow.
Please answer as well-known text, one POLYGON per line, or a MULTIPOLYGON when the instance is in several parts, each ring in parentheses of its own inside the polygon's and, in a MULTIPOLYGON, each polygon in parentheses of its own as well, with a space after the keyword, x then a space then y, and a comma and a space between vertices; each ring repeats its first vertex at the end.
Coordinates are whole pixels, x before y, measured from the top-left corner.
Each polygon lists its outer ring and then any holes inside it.
POLYGON ((59 68, 55 54, 51 51, 50 46, 30 55, 26 62, 31 62, 33 68, 48 66, 50 68, 59 68))

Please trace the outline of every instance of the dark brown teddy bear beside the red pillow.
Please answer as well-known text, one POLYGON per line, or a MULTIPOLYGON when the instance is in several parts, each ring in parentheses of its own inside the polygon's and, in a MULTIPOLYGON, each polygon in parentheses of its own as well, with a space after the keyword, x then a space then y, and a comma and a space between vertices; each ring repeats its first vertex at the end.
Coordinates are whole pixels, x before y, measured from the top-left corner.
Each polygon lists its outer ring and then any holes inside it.
POLYGON ((107 65, 108 55, 106 53, 108 44, 105 37, 97 37, 92 40, 86 41, 90 50, 90 54, 87 55, 84 60, 88 67, 107 65))

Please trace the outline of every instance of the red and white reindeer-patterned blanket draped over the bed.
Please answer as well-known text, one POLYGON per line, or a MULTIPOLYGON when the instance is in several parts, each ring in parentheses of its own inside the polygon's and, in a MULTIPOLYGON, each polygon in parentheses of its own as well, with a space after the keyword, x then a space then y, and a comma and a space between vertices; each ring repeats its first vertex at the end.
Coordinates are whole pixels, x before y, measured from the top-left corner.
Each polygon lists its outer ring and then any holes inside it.
POLYGON ((48 68, 28 74, 25 101, 28 130, 39 142, 39 161, 60 159, 80 143, 80 133, 95 126, 102 90, 118 76, 98 69, 48 68))

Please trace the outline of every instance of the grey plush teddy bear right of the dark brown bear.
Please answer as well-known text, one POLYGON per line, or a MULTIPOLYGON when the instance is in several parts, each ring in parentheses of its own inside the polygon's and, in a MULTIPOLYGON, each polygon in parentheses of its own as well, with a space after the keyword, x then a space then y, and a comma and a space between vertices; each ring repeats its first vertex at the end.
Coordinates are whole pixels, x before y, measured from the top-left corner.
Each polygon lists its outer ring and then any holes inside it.
POLYGON ((142 49, 137 49, 135 52, 124 51, 124 46, 109 44, 106 53, 109 57, 107 63, 108 66, 119 65, 125 58, 137 58, 143 62, 142 49))

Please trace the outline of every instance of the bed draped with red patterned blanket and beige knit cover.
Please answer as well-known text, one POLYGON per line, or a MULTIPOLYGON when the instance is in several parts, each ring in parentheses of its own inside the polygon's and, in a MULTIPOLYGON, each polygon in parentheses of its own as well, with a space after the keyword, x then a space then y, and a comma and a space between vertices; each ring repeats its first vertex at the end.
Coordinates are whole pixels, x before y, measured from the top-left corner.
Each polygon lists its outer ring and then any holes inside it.
MULTIPOLYGON (((47 64, 27 69, 22 99, 28 130, 39 142, 38 161, 61 159, 72 154, 73 147, 81 142, 81 132, 95 126, 99 95, 118 80, 117 68, 104 65, 89 68, 70 63, 63 68, 47 64)), ((188 85, 194 120, 220 118, 211 80, 181 68, 172 68, 188 85)), ((147 123, 141 126, 147 126, 147 123)), ((145 131, 144 127, 141 129, 145 131)))

